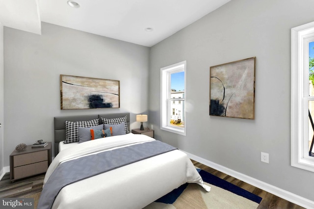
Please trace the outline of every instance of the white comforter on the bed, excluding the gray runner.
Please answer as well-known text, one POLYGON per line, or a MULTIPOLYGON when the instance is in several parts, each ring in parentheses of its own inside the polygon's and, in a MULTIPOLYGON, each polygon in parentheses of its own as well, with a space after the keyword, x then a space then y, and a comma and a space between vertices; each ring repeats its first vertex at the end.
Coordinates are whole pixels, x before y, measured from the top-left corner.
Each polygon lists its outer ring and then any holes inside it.
MULTIPOLYGON (((60 152, 52 161, 44 186, 62 162, 99 151, 155 140, 145 135, 127 134, 78 144, 60 152)), ((173 150, 152 158, 99 174, 65 186, 56 197, 53 209, 141 209, 184 183, 203 184, 187 155, 173 150)))

